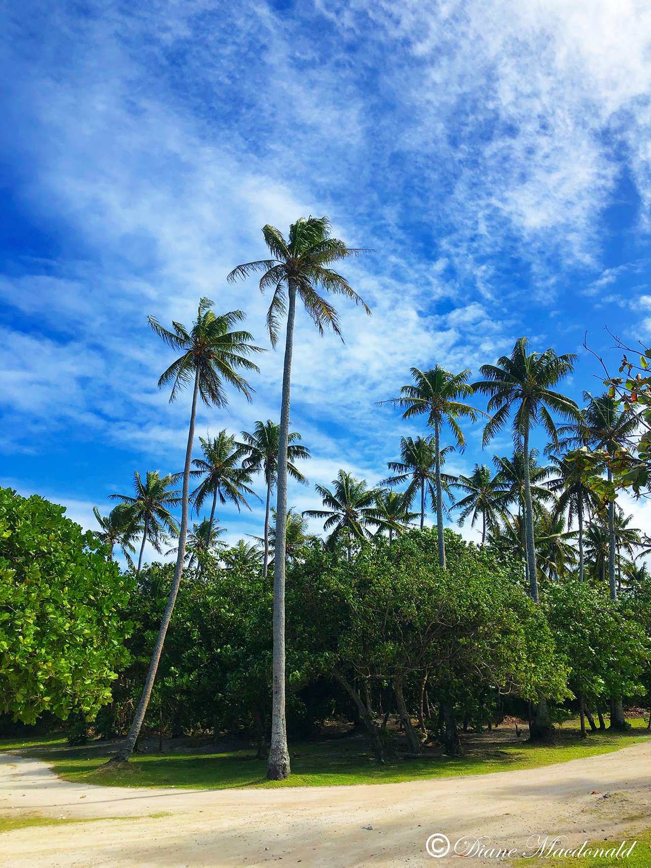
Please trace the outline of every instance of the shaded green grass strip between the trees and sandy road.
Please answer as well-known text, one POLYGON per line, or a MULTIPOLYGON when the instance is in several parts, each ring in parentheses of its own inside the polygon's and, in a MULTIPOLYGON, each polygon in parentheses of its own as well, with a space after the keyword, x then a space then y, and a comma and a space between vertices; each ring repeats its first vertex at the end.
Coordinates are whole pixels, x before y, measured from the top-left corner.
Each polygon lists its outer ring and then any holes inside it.
MULTIPOLYGON (((253 752, 136 754, 128 764, 106 766, 107 751, 97 753, 98 744, 70 748, 59 746, 62 739, 37 739, 20 743, 0 741, 0 751, 22 748, 43 759, 62 779, 102 786, 157 786, 188 789, 231 789, 240 787, 333 786, 387 784, 407 780, 452 778, 537 768, 570 759, 611 753, 651 733, 643 720, 630 721, 627 733, 590 733, 582 740, 575 730, 561 730, 552 745, 517 742, 473 746, 462 758, 425 756, 396 759, 378 766, 357 740, 321 740, 295 746, 293 774, 286 781, 266 780, 266 762, 253 752)), ((490 733, 486 733, 490 739, 490 733)))

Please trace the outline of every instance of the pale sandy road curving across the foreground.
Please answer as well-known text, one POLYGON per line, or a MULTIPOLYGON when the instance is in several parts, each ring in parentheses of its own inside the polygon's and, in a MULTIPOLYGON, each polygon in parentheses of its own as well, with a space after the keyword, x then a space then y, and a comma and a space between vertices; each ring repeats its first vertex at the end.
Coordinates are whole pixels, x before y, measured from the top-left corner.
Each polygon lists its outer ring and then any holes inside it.
POLYGON ((431 858, 425 840, 488 836, 522 853, 531 835, 619 841, 651 825, 651 742, 522 772, 276 790, 71 784, 4 753, 0 815, 19 814, 95 821, 5 832, 3 868, 458 865, 431 858))

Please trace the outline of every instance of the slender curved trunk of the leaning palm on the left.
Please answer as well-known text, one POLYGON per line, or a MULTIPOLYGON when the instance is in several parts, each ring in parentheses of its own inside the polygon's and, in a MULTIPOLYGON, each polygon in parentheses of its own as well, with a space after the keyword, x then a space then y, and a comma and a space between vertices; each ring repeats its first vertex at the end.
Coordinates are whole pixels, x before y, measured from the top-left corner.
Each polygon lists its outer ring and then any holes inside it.
POLYGON ((192 396, 192 411, 190 412, 190 425, 187 431, 187 448, 186 448, 186 464, 183 468, 183 490, 181 494, 181 528, 179 529, 179 550, 176 555, 176 567, 174 568, 174 581, 172 589, 168 596, 168 605, 165 607, 165 612, 161 621, 161 628, 158 631, 158 637, 152 652, 151 662, 145 686, 142 688, 142 694, 138 707, 135 711, 135 717, 131 728, 128 731, 127 738, 122 743, 122 746, 115 753, 115 756, 109 761, 128 762, 129 757, 133 753, 135 742, 140 734, 142 721, 145 719, 149 698, 156 678, 158 664, 161 661, 161 653, 165 635, 168 632, 169 621, 172 618, 174 611, 174 603, 176 595, 179 593, 179 585, 181 584, 181 575, 183 573, 183 562, 186 556, 186 538, 187 538, 187 500, 190 493, 190 468, 192 466, 192 445, 194 443, 194 421, 197 415, 197 398, 199 396, 199 368, 194 373, 194 393, 192 396))

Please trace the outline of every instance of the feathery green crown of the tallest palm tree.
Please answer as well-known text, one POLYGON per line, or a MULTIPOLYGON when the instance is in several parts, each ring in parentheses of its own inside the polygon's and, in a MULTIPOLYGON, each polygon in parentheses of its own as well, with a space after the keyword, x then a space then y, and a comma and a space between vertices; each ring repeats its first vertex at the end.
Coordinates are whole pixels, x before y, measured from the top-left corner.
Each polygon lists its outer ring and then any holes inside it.
POLYGON ((260 278, 260 291, 264 293, 267 289, 273 289, 266 315, 273 346, 278 341, 279 318, 286 312, 285 289, 290 283, 320 334, 323 334, 325 326, 332 328, 338 335, 341 330, 337 311, 319 295, 319 289, 333 295, 344 295, 356 305, 363 306, 367 313, 371 312, 345 277, 329 267, 333 262, 368 251, 365 248, 348 247, 344 241, 330 238, 330 229, 327 217, 301 217, 289 227, 289 236, 285 239, 279 229, 267 224, 262 234, 273 259, 246 262, 233 268, 228 275, 229 282, 233 282, 255 272, 264 272, 260 278))

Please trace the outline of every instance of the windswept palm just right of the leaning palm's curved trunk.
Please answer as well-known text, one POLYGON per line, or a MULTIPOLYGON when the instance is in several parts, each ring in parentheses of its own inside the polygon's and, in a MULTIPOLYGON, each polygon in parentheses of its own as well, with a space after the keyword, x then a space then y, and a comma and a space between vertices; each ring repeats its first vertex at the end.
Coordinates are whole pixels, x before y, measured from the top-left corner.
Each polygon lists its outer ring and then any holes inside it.
MULTIPOLYGON (((238 512, 240 506, 250 509, 245 494, 257 497, 247 483, 251 482, 251 473, 244 467, 240 467, 240 459, 244 456, 244 449, 235 442, 233 434, 227 434, 226 429, 220 431, 212 440, 210 437, 201 441, 202 458, 194 458, 193 464, 196 470, 190 470, 191 477, 203 477, 201 484, 196 488, 190 500, 194 503, 194 510, 199 515, 207 497, 212 497, 208 530, 213 526, 214 510, 217 499, 220 503, 234 503, 238 512)), ((210 540, 208 539, 208 542, 210 540)))

